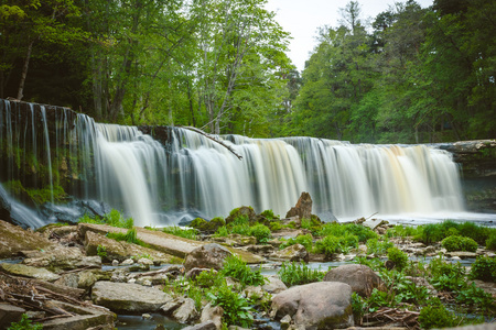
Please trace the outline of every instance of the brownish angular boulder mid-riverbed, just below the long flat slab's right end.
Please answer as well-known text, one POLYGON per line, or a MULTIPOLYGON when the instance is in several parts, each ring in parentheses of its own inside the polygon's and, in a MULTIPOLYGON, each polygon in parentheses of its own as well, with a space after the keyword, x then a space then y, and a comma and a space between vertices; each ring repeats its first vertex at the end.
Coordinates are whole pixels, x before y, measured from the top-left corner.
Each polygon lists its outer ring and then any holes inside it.
POLYGON ((220 270, 224 260, 233 253, 226 248, 216 244, 205 244, 193 250, 184 261, 186 272, 193 268, 214 268, 220 270))

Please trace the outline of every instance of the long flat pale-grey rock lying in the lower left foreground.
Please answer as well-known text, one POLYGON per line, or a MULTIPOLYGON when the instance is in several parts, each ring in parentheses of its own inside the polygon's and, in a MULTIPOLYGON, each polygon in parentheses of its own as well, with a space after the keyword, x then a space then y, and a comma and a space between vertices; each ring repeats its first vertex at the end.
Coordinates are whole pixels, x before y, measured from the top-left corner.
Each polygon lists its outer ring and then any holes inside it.
POLYGON ((100 280, 93 287, 91 299, 116 312, 153 312, 172 297, 153 287, 100 280))

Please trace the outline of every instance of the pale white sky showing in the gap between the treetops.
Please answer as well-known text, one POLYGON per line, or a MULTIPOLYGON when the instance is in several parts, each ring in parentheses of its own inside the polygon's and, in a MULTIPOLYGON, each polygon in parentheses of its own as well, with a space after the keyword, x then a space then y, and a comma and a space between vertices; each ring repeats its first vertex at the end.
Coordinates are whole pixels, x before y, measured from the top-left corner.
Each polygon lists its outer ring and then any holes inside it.
MULTIPOLYGON (((433 0, 417 0, 422 7, 429 7, 433 0)), ((293 37, 290 41, 288 56, 301 72, 310 53, 316 46, 317 28, 330 25, 338 26, 339 8, 348 1, 343 0, 268 0, 267 10, 276 12, 276 21, 293 37)), ((362 21, 371 20, 386 11, 393 0, 358 0, 362 9, 362 21)), ((406 2, 406 1, 399 1, 406 2)))

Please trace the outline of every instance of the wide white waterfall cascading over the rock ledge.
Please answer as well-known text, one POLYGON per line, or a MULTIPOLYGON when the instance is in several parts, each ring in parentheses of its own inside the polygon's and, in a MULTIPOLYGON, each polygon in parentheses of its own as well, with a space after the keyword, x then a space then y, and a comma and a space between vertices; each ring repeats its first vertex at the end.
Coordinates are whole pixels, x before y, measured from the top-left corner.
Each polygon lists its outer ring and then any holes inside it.
POLYGON ((428 146, 225 136, 239 161, 185 129, 169 128, 162 145, 136 127, 57 109, 0 105, 0 182, 24 201, 103 200, 138 226, 225 217, 241 205, 284 216, 302 191, 324 219, 464 210, 456 164, 428 146))

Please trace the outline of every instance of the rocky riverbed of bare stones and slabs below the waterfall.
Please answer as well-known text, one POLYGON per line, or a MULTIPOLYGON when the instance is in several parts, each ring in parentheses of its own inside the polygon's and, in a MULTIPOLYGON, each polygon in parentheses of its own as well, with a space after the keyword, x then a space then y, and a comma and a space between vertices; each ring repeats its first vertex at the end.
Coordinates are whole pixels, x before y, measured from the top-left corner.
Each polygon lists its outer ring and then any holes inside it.
MULTIPOLYGON (((249 208, 246 212, 250 212, 249 208)), ((230 255, 237 255, 247 264, 270 264, 273 267, 279 267, 281 262, 333 260, 346 263, 358 256, 367 257, 364 244, 336 254, 310 253, 301 244, 280 249, 288 239, 311 233, 301 227, 301 219, 312 218, 310 196, 302 196, 287 216, 277 220, 281 228, 272 230, 266 244, 239 234, 212 235, 208 230, 200 240, 188 240, 137 228, 137 237, 147 248, 109 239, 108 233, 126 232, 109 226, 51 224, 33 232, 0 221, 0 329, 19 322, 23 315, 28 315, 32 322, 43 324, 43 329, 114 329, 119 327, 116 315, 142 318, 163 315, 175 321, 179 328, 220 329, 227 311, 212 301, 195 300, 185 293, 188 286, 197 283, 193 280, 200 274, 211 270, 222 272, 226 257, 230 255)), ((365 219, 357 224, 379 235, 392 227, 386 221, 365 219)), ((455 262, 475 260, 479 255, 495 256, 493 251, 483 246, 475 252, 448 252, 439 244, 425 245, 408 237, 390 241, 410 258, 438 257, 441 254, 455 262)), ((352 294, 369 297, 374 289, 385 289, 386 286, 366 265, 346 263, 325 272, 322 282, 291 287, 276 274, 265 275, 265 278, 261 285, 242 287, 236 278, 226 280, 233 290, 236 287, 250 301, 257 297, 259 308, 251 328, 419 326, 419 312, 408 308, 381 309, 382 318, 376 317, 368 322, 356 318, 352 294)), ((412 280, 425 287, 430 295, 439 294, 421 277, 412 280)), ((474 280, 474 285, 496 297, 493 282, 474 280)), ((165 328, 158 322, 157 329, 165 328)))

